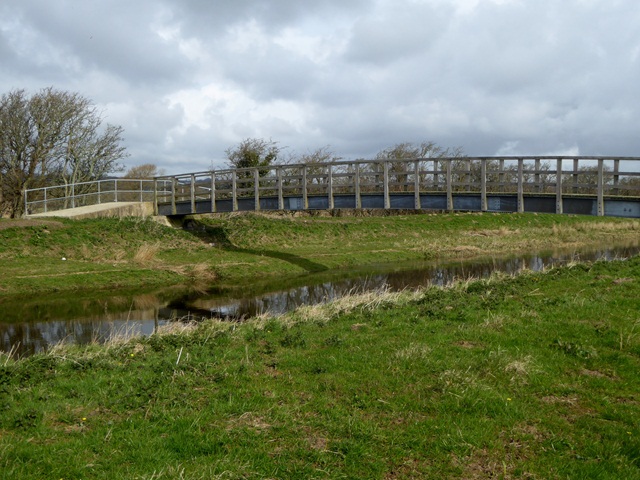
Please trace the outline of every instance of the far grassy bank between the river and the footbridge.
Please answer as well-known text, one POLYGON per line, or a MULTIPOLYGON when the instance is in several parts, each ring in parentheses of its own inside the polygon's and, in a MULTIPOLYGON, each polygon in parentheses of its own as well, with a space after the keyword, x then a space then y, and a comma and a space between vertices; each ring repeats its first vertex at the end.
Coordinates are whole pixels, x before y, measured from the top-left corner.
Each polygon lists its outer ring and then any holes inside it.
POLYGON ((636 241, 640 221, 535 214, 368 217, 233 214, 151 220, 0 220, 0 297, 233 285, 374 263, 636 241))

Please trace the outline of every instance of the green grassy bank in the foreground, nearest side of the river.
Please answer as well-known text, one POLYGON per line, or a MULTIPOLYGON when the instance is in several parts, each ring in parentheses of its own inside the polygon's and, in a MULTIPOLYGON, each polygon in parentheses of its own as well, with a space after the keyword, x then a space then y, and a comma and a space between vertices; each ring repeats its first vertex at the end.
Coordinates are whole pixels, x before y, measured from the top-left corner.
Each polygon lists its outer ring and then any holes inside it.
POLYGON ((0 357, 0 478, 640 478, 639 294, 636 257, 0 357))

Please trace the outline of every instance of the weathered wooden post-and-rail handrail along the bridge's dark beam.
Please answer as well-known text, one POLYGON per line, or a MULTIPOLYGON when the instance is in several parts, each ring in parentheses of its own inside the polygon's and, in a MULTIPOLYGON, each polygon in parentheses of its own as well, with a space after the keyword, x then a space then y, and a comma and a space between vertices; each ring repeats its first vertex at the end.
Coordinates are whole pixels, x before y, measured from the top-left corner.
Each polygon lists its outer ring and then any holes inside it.
MULTIPOLYGON (((327 163, 282 164, 265 167, 209 170, 156 177, 169 182, 170 189, 158 191, 160 205, 171 205, 176 214, 178 203, 210 201, 216 211, 218 200, 231 200, 232 211, 238 200, 253 197, 255 210, 260 198, 277 199, 283 209, 284 198, 302 199, 308 209, 312 196, 327 198, 333 208, 334 196, 355 196, 361 208, 363 195, 384 197, 384 208, 391 208, 393 194, 414 195, 414 206, 421 208, 421 195, 446 194, 447 210, 453 210, 453 194, 474 193, 481 197, 481 209, 487 211, 491 195, 510 193, 517 197, 517 211, 524 211, 524 196, 555 196, 556 212, 562 213, 563 198, 590 195, 597 199, 597 214, 604 214, 605 197, 640 197, 640 157, 603 156, 502 156, 445 157, 415 159, 347 160, 327 163)), ((275 200, 274 200, 275 201, 275 200)))

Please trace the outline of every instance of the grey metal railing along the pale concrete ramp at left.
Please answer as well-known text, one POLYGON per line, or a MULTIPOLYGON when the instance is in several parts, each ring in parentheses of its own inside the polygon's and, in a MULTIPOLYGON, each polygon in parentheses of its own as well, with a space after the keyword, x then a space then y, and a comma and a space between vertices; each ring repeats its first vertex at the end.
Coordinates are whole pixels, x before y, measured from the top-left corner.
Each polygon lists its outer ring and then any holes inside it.
POLYGON ((154 202, 156 189, 161 191, 168 184, 153 179, 110 178, 33 188, 25 190, 25 212, 33 215, 110 202, 154 202))

